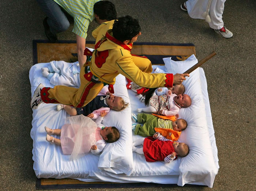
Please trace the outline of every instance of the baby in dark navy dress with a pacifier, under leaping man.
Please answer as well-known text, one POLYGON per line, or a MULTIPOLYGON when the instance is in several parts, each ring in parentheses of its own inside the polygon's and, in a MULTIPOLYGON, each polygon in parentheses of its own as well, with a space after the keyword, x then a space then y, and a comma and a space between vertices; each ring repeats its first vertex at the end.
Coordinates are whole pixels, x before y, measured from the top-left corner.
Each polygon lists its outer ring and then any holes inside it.
POLYGON ((109 112, 110 109, 121 111, 128 106, 128 104, 124 102, 123 98, 110 93, 106 86, 102 88, 100 94, 102 95, 97 95, 83 108, 73 108, 69 105, 58 104, 57 110, 65 109, 65 111, 71 116, 83 114, 84 116, 96 119, 99 117, 102 110, 105 110, 106 112, 109 112))

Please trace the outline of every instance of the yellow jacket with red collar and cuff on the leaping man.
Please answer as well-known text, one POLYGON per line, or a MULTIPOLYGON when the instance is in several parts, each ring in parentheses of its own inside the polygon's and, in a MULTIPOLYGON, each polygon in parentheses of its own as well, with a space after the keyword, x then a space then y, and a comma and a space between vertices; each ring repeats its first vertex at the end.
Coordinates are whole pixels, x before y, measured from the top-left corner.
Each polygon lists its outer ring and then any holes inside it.
POLYGON ((173 74, 151 74, 151 62, 146 57, 132 56, 132 44, 113 37, 113 23, 114 20, 102 23, 92 32, 96 44, 91 73, 107 84, 114 84, 115 77, 122 74, 141 87, 172 87, 173 74))

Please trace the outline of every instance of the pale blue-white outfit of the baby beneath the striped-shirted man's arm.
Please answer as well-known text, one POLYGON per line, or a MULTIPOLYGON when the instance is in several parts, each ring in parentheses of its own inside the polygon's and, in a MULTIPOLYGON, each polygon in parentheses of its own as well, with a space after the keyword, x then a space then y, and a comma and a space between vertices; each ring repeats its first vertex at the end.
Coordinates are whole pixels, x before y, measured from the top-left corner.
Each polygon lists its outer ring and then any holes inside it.
POLYGON ((80 86, 80 67, 78 62, 68 63, 65 61, 51 61, 54 70, 52 78, 49 79, 53 85, 80 86))

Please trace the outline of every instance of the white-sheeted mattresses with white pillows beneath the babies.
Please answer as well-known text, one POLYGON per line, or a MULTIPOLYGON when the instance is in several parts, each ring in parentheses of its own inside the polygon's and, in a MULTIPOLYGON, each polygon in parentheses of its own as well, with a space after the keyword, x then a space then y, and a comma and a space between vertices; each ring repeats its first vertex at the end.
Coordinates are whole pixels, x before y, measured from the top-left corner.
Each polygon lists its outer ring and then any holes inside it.
MULTIPOLYGON (((31 67, 29 78, 32 95, 39 83, 53 87, 41 74, 41 67, 47 65, 49 63, 39 63, 31 67)), ((164 66, 159 67, 167 70, 164 66)), ((186 70, 185 67, 184 70, 186 70)), ((131 102, 131 105, 121 112, 111 110, 104 118, 102 122, 104 125, 116 126, 120 130, 120 139, 115 143, 107 144, 101 155, 89 153, 80 159, 70 161, 69 155, 64 155, 60 146, 51 145, 45 140, 44 130, 44 126, 53 129, 61 128, 69 115, 64 110, 58 112, 54 104, 41 104, 38 109, 33 110, 30 135, 33 139, 33 168, 36 176, 38 178, 74 178, 82 181, 178 184, 179 186, 199 184, 212 187, 219 168, 217 147, 206 78, 202 68, 197 70, 198 73, 195 76, 202 91, 199 92, 200 95, 191 98, 192 102, 197 98, 199 101, 195 101, 195 104, 189 107, 190 109, 183 108, 179 112, 180 117, 188 122, 188 128, 182 131, 180 136, 180 140, 187 143, 190 148, 188 156, 178 157, 178 160, 165 164, 163 161, 148 163, 143 155, 132 153, 132 141, 140 136, 132 133, 131 112, 137 113, 136 109, 144 105, 135 96, 135 92, 127 91, 125 78, 118 75, 114 85, 115 95, 123 97, 126 102, 131 102), (196 109, 200 110, 200 116, 196 115, 199 114, 198 111, 196 114, 191 113, 196 109), (195 124, 191 121, 192 118, 197 118, 197 121, 202 121, 202 124, 195 124)), ((188 94, 192 92, 189 87, 186 89, 188 94)))

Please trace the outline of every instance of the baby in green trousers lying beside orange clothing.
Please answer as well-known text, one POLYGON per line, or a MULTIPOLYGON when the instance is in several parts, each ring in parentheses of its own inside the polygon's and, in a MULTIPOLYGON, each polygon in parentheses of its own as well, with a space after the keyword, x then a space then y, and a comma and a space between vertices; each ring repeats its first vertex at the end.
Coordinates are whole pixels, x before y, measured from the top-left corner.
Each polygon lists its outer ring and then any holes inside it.
MULTIPOLYGON (((134 122, 143 123, 143 126, 140 124, 132 124, 132 130, 134 131, 135 135, 140 135, 143 137, 153 136, 155 133, 155 127, 172 129, 176 132, 181 132, 187 128, 187 121, 184 119, 177 119, 175 121, 163 120, 146 113, 138 113, 138 115, 132 113, 132 120, 134 122)), ((172 137, 172 140, 178 140, 180 133, 175 133, 173 136, 169 136, 172 137)))

